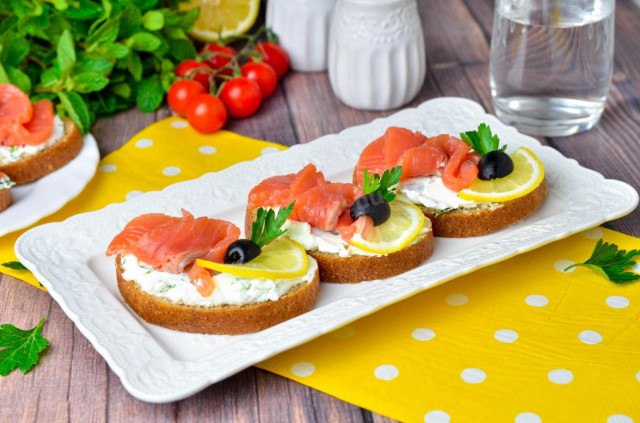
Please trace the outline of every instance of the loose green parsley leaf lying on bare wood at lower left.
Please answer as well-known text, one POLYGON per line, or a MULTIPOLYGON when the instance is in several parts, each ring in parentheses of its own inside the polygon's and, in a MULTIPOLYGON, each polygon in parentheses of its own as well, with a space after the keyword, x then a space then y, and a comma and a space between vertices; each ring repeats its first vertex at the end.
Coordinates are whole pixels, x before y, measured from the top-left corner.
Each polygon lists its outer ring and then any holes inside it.
POLYGON ((33 329, 22 330, 13 325, 0 326, 0 376, 8 375, 16 367, 24 374, 37 362, 49 341, 40 334, 45 322, 43 317, 33 329))

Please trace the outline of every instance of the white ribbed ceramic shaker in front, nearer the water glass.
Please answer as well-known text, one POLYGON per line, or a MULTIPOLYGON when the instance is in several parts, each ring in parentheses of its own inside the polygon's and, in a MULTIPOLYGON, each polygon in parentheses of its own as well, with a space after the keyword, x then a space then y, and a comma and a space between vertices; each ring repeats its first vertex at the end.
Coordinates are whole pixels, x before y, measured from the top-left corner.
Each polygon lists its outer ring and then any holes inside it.
POLYGON ((366 110, 402 106, 418 94, 425 73, 416 0, 338 0, 329 79, 342 102, 366 110))

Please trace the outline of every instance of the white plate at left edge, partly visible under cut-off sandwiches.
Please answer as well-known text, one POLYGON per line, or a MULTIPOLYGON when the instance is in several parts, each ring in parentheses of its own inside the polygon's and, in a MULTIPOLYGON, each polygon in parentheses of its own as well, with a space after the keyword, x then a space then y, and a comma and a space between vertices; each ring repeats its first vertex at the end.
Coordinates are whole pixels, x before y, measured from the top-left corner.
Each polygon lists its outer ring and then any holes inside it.
POLYGON ((13 203, 0 213, 0 236, 26 228, 75 198, 96 173, 100 151, 91 134, 67 165, 27 185, 11 189, 13 203))

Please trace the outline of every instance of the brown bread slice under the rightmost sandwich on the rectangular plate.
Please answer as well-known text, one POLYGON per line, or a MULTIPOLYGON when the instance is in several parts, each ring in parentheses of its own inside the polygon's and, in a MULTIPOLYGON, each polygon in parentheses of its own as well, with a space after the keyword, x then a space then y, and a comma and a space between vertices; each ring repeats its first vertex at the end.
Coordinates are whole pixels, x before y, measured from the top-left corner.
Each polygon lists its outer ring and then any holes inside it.
MULTIPOLYGON (((459 208, 436 216, 436 210, 420 207, 433 224, 433 234, 444 238, 487 235, 523 219, 534 211, 547 195, 547 181, 529 194, 500 203, 497 207, 459 208)), ((418 205, 420 206, 420 205, 418 205)))

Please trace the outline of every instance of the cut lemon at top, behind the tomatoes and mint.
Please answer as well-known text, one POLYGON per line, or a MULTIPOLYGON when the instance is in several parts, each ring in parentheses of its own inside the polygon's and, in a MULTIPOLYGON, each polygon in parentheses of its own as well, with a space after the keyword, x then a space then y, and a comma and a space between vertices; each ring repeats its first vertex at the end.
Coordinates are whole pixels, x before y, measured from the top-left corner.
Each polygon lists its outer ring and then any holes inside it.
POLYGON ((191 28, 191 36, 201 41, 241 35, 256 21, 260 0, 190 0, 180 3, 180 10, 200 8, 191 28))

